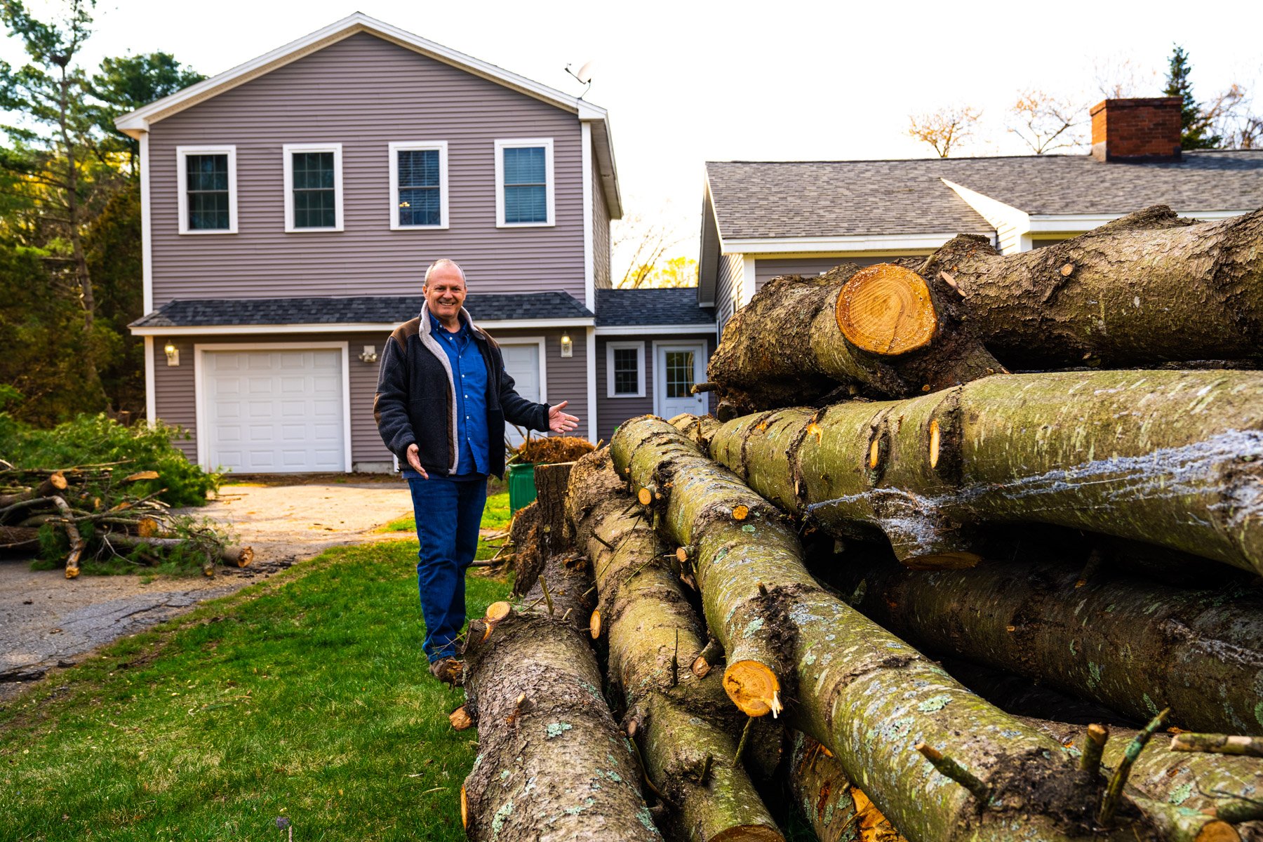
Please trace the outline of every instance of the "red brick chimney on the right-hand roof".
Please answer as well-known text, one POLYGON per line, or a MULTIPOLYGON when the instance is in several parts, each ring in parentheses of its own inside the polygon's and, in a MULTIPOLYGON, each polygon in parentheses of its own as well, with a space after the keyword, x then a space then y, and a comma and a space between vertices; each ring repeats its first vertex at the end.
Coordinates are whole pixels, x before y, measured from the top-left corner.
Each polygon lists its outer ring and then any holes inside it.
POLYGON ((1180 160, 1177 96, 1103 100, 1092 107, 1092 158, 1096 160, 1180 160))

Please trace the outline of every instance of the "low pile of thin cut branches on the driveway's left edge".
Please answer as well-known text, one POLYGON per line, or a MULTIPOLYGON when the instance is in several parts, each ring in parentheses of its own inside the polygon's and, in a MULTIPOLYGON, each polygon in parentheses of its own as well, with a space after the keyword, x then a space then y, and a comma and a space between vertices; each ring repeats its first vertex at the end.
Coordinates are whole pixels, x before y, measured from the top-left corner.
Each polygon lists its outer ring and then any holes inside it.
POLYGON ((177 547, 195 547, 206 576, 215 576, 216 564, 245 567, 254 559, 251 548, 229 545, 217 530, 174 516, 159 500, 165 489, 128 491, 158 478, 157 471, 128 471, 124 462, 51 470, 0 461, 0 553, 37 553, 43 529, 64 535, 68 579, 80 574, 85 558, 153 563, 177 547))

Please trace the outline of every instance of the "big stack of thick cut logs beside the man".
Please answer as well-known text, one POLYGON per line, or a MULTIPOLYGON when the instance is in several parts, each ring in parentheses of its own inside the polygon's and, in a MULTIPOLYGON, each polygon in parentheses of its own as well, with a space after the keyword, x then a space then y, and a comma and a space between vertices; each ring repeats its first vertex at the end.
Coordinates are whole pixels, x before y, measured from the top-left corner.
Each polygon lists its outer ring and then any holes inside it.
POLYGON ((474 839, 1263 839, 1263 211, 769 282, 541 483, 474 839))

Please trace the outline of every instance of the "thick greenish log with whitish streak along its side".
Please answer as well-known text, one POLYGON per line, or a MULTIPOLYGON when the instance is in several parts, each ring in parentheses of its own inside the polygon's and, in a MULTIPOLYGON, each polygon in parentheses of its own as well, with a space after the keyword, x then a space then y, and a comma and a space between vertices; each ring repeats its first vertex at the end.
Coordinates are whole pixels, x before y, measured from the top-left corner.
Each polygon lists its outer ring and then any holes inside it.
POLYGON ((1036 521, 1263 572, 1263 374, 997 375, 899 401, 734 419, 711 454, 912 567, 978 560, 962 525, 1036 521))

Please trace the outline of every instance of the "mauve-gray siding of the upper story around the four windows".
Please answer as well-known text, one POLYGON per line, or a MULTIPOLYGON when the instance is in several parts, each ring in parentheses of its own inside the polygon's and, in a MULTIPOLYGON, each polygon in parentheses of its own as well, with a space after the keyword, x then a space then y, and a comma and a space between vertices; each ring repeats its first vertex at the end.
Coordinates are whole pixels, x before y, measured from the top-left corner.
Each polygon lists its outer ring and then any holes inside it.
POLYGON ((576 115, 366 33, 153 125, 154 305, 173 298, 416 293, 457 260, 477 292, 584 300, 576 115), (552 138, 556 226, 495 226, 496 139, 552 138), (389 227, 390 141, 448 144, 447 230, 389 227), (344 231, 284 231, 283 144, 341 143, 344 231), (236 145, 239 234, 178 234, 176 148, 236 145))

